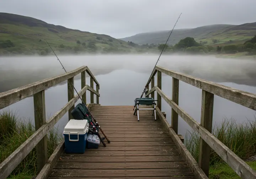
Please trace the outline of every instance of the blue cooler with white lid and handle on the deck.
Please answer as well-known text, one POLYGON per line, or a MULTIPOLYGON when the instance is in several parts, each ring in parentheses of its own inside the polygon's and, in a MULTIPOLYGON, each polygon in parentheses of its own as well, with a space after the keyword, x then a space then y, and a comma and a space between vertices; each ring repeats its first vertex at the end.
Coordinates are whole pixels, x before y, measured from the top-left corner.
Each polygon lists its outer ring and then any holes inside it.
POLYGON ((84 153, 89 123, 85 120, 70 119, 64 128, 65 152, 84 153))

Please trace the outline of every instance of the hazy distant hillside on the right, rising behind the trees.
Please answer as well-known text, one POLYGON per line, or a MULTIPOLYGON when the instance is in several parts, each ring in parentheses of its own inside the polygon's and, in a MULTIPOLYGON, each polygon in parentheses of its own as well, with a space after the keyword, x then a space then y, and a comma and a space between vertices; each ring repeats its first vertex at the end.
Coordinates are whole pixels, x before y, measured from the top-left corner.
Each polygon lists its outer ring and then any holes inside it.
MULTIPOLYGON (((137 44, 165 43, 171 31, 147 32, 131 37, 121 38, 137 44)), ((209 25, 192 29, 174 29, 168 44, 174 45, 186 37, 193 37, 204 44, 240 43, 252 38, 256 34, 256 22, 242 25, 209 25)))

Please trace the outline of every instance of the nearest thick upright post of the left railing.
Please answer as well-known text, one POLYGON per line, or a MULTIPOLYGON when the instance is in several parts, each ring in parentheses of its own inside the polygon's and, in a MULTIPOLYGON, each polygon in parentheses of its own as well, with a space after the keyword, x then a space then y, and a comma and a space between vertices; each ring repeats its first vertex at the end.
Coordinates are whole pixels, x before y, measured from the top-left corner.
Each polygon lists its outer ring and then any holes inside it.
MULTIPOLYGON (((46 123, 46 111, 45 111, 45 98, 44 90, 33 95, 34 98, 34 120, 36 131, 46 123)), ((37 151, 37 171, 42 170, 46 162, 47 157, 47 135, 43 137, 41 141, 36 145, 37 151)))

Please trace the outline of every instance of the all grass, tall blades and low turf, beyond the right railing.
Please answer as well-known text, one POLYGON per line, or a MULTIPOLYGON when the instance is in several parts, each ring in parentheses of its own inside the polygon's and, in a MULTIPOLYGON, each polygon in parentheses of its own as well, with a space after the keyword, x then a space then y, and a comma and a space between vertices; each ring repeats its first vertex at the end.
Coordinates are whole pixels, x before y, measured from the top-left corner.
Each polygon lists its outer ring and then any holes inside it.
MULTIPOLYGON (((250 161, 256 158, 256 119, 243 124, 237 124, 234 119, 224 119, 221 124, 214 126, 213 135, 238 157, 248 161, 247 163, 256 169, 256 161, 250 161)), ((195 132, 186 135, 185 146, 198 162, 199 136, 195 132)), ((211 178, 236 179, 239 176, 212 150, 210 154, 211 178)))

